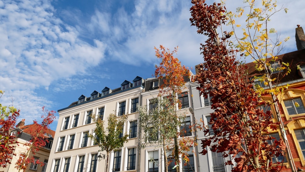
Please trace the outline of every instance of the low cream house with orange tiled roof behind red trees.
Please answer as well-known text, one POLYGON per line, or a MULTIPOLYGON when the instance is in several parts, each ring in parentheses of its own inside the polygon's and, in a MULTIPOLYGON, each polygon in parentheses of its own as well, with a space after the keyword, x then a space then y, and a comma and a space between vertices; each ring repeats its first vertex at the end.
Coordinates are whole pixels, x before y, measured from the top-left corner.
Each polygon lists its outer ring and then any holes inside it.
MULTIPOLYGON (((15 168, 16 162, 19 159, 20 154, 26 154, 27 148, 25 144, 31 140, 31 132, 35 130, 37 127, 37 124, 31 124, 31 125, 24 125, 25 119, 22 119, 21 122, 19 122, 14 130, 12 130, 12 134, 15 135, 16 141, 18 144, 14 143, 13 146, 15 146, 14 154, 16 156, 13 156, 13 159, 11 160, 10 164, 7 164, 7 167, 3 168, 0 167, 1 172, 18 172, 18 169, 15 168)), ((53 137, 55 135, 55 131, 53 130, 47 130, 47 132, 44 134, 44 137, 49 140, 48 143, 42 148, 39 148, 38 152, 30 152, 29 156, 34 156, 35 162, 39 161, 43 163, 43 166, 40 164, 30 163, 27 166, 27 169, 25 172, 46 172, 46 167, 48 164, 48 159, 50 155, 50 150, 53 143, 53 137)))

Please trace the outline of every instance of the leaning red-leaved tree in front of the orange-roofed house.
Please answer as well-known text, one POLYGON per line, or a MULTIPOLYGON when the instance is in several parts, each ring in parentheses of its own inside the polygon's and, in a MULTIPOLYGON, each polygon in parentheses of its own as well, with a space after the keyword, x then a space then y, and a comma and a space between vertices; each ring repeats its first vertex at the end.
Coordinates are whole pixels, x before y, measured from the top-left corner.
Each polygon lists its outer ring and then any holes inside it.
POLYGON ((35 129, 30 131, 31 140, 24 144, 27 147, 25 152, 21 152, 19 155, 19 159, 16 162, 15 168, 19 170, 25 171, 27 169, 28 164, 36 163, 36 164, 43 164, 43 162, 35 161, 34 156, 36 152, 39 151, 40 148, 48 143, 48 140, 44 137, 44 134, 50 129, 50 124, 55 119, 54 113, 55 111, 48 111, 42 107, 43 115, 41 115, 42 121, 38 123, 34 120, 35 129))

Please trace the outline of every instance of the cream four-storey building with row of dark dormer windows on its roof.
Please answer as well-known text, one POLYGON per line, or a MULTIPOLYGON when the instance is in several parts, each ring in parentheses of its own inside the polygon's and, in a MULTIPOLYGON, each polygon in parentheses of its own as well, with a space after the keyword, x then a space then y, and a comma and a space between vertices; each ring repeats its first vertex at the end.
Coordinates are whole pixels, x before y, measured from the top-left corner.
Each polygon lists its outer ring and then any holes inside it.
MULTIPOLYGON (((138 156, 138 112, 136 104, 141 104, 144 79, 136 77, 133 82, 124 81, 117 89, 105 87, 101 93, 94 91, 90 97, 81 95, 69 107, 58 110, 59 122, 56 128, 54 146, 51 150, 47 171, 88 172, 104 171, 105 160, 97 157, 99 147, 88 138, 93 134, 95 123, 91 114, 101 116, 105 121, 110 113, 117 116, 128 114, 123 133, 128 133, 128 142, 120 151, 112 152, 109 157, 110 171, 136 171, 138 156)), ((105 123, 107 127, 107 123, 105 123)))

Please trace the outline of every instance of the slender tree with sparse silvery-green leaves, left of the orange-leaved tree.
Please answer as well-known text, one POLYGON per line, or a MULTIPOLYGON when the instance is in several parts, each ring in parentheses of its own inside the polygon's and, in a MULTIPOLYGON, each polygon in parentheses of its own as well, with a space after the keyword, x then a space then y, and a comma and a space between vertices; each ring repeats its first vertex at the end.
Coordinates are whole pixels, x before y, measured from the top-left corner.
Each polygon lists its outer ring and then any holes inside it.
POLYGON ((162 145, 164 167, 167 172, 167 150, 169 150, 172 140, 177 136, 177 124, 179 119, 174 113, 174 106, 168 99, 158 97, 152 100, 152 104, 156 106, 152 110, 148 110, 147 106, 138 106, 140 129, 143 134, 144 144, 146 145, 162 145))

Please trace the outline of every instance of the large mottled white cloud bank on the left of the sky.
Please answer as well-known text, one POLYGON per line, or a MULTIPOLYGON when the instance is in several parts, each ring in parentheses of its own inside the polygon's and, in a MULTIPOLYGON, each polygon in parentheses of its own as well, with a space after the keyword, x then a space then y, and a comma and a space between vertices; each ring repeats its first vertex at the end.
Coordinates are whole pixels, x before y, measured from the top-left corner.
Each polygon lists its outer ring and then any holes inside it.
POLYGON ((40 119, 41 107, 54 103, 34 90, 47 91, 52 82, 84 73, 104 59, 103 42, 93 40, 91 46, 80 40, 76 28, 54 12, 48 1, 0 1, 0 89, 6 95, 1 102, 9 105, 7 97, 14 97, 27 122, 40 119))

